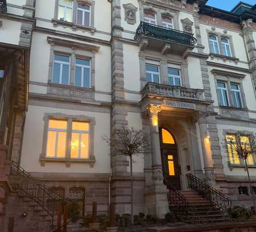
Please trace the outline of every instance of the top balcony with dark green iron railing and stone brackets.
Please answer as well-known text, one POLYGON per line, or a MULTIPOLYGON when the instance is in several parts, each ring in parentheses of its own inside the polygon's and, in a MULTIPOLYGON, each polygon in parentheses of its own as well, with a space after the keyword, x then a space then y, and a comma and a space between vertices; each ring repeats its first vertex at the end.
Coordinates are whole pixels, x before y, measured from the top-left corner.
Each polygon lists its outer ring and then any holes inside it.
POLYGON ((197 43, 193 34, 145 22, 140 23, 134 39, 139 43, 141 51, 144 51, 145 48, 151 48, 161 50, 162 54, 178 53, 184 58, 188 57, 197 43))

